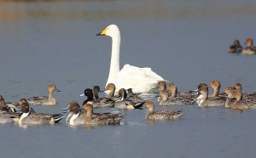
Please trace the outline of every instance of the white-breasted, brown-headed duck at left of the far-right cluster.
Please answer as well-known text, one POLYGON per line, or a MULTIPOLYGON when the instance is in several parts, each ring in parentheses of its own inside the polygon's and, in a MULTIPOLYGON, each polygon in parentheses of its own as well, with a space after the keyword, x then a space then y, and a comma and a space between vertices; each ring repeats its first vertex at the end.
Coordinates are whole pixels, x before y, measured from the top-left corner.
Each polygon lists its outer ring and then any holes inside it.
POLYGON ((224 106, 226 98, 225 97, 211 97, 208 98, 208 87, 201 87, 198 89, 201 95, 197 98, 197 103, 199 106, 224 106))

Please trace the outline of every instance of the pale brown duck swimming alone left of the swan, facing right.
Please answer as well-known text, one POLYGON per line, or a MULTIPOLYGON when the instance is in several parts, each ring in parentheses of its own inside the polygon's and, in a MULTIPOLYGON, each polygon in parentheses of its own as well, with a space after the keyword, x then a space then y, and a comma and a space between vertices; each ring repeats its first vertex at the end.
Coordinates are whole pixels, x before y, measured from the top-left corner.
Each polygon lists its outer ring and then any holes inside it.
POLYGON ((50 84, 47 87, 48 96, 32 97, 27 99, 27 101, 30 104, 36 104, 36 105, 56 105, 58 104, 58 102, 52 95, 54 91, 61 92, 59 89, 55 87, 54 84, 50 84))

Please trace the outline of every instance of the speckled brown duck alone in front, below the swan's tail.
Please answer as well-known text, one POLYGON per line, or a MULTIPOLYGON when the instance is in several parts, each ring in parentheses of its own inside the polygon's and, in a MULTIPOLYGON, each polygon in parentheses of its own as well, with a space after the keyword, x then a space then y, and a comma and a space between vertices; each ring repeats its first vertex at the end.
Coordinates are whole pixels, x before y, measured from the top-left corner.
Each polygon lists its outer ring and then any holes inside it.
POLYGON ((148 114, 145 117, 146 120, 176 120, 185 115, 184 113, 181 113, 182 110, 154 111, 154 102, 152 101, 147 101, 145 106, 148 108, 148 114))

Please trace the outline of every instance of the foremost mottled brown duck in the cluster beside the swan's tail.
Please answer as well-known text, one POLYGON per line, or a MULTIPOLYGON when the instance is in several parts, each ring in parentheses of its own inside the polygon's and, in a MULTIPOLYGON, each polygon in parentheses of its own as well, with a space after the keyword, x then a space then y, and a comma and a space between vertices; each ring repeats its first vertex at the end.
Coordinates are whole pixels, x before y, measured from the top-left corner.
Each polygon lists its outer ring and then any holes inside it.
POLYGON ((174 92, 172 93, 171 97, 166 90, 160 91, 160 105, 170 105, 170 104, 195 104, 195 98, 191 97, 177 97, 177 94, 174 92), (174 95, 173 95, 174 94, 174 95))

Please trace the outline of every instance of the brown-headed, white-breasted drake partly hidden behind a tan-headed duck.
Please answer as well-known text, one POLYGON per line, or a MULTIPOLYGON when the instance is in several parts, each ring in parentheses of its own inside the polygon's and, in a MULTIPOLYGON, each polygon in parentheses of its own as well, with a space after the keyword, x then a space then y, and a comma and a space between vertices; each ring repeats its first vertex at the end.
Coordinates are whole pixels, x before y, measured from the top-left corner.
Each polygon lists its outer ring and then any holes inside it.
MULTIPOLYGON (((86 111, 81 110, 80 105, 76 101, 71 101, 67 105, 67 109, 70 110, 69 115, 66 118, 66 122, 69 123, 70 125, 84 125, 84 120, 86 117, 86 111)), ((96 113, 93 112, 92 117, 96 116, 103 116, 103 115, 108 115, 110 114, 109 112, 106 113, 96 113)))

